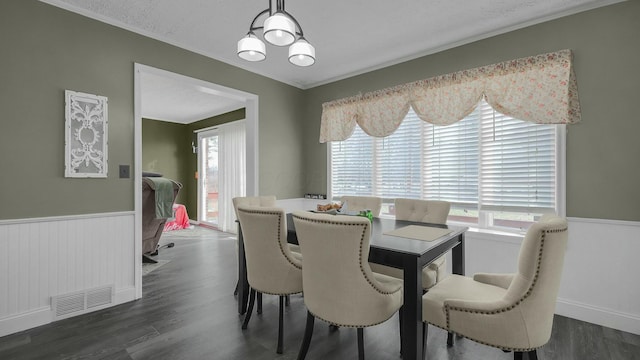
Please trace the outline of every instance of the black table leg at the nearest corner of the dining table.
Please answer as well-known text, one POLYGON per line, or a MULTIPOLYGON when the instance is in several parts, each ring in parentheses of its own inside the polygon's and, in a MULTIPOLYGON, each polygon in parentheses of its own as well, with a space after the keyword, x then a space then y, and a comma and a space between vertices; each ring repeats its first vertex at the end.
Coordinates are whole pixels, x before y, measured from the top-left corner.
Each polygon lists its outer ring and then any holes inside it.
POLYGON ((402 358, 422 359, 422 267, 415 257, 404 259, 402 358))

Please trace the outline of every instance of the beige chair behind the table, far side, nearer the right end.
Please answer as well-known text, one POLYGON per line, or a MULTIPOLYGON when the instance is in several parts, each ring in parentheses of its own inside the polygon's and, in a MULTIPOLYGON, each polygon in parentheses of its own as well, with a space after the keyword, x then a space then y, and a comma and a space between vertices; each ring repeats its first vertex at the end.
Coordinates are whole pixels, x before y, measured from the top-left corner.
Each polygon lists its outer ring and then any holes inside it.
MULTIPOLYGON (((447 201, 401 199, 395 200, 396 220, 408 220, 431 224, 445 224, 451 204, 447 201)), ((371 264, 373 271, 402 279, 401 269, 371 264)), ((440 256, 422 269, 422 288, 427 290, 446 274, 446 257, 440 256)))

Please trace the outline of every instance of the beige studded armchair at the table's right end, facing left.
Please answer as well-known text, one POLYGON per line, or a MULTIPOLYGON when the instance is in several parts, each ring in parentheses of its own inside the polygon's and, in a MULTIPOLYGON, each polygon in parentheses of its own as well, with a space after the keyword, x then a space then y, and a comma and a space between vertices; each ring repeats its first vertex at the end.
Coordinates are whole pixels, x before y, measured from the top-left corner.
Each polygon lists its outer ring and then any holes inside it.
POLYGON ((551 337, 566 246, 567 220, 543 216, 525 235, 516 273, 448 276, 422 297, 423 321, 537 359, 551 337))

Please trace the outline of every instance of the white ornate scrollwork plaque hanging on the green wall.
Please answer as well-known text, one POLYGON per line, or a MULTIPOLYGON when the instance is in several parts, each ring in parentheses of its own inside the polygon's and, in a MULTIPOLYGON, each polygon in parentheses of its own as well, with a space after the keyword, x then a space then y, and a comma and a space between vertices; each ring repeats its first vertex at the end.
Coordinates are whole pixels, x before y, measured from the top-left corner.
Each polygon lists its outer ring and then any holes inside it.
POLYGON ((64 94, 65 177, 107 177, 107 98, 64 94))

